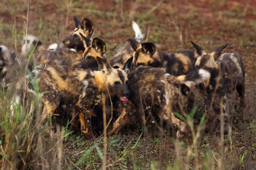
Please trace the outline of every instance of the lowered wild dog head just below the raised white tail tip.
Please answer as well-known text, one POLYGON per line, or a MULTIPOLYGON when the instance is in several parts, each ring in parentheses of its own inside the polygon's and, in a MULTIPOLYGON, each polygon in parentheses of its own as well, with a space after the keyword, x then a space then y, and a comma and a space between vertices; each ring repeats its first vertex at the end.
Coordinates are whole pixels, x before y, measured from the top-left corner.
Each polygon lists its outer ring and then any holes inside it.
POLYGON ((151 42, 144 42, 141 45, 136 40, 128 39, 131 47, 134 49, 132 65, 150 65, 156 64, 157 60, 153 58, 156 52, 156 46, 151 42))

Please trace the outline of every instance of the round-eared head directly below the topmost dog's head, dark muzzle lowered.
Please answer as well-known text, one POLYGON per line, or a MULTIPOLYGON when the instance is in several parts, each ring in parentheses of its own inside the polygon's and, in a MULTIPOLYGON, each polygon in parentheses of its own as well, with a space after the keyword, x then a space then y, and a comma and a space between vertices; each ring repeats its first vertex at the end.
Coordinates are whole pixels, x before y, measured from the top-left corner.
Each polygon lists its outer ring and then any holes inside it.
POLYGON ((107 51, 105 42, 95 37, 92 44, 89 46, 90 40, 82 34, 81 37, 83 38, 84 46, 86 46, 86 48, 78 67, 84 69, 98 68, 97 57, 103 58, 103 54, 107 51))

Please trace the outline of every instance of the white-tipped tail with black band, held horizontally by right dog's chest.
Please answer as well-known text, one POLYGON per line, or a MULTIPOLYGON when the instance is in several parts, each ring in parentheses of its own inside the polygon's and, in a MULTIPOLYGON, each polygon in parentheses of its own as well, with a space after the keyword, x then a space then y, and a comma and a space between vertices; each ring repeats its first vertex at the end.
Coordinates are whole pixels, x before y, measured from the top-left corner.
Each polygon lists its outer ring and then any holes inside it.
POLYGON ((177 77, 177 81, 180 84, 185 84, 189 88, 194 88, 195 85, 199 85, 200 83, 203 83, 204 87, 209 85, 211 74, 204 70, 199 69, 198 71, 192 71, 187 75, 181 75, 177 77))

